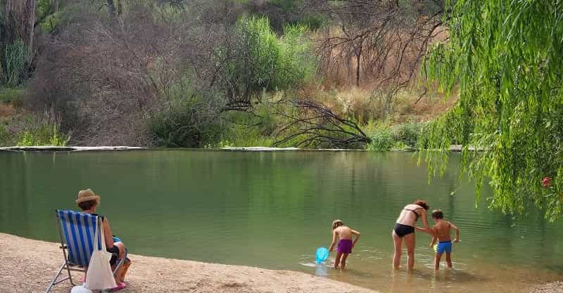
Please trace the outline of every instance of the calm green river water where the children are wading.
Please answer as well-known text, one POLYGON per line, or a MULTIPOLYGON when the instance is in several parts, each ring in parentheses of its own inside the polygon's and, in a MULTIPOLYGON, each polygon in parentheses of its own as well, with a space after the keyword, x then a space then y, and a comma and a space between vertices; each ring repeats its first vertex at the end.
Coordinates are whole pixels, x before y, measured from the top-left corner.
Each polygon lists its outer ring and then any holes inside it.
MULTIPOLYGON (((488 189, 458 181, 452 154, 429 184, 426 166, 404 152, 0 152, 0 232, 55 242, 54 209, 76 209, 77 191, 101 195, 133 254, 315 274, 314 252, 331 221, 362 237, 345 272, 328 277, 381 292, 527 292, 563 276, 563 230, 531 211, 486 209, 488 189), (450 195, 453 191, 455 193, 450 195), (391 270, 391 228, 417 198, 461 230, 455 269, 434 276, 430 237, 417 233, 416 270, 391 270)), ((331 259, 334 255, 331 256, 331 259)), ((330 262, 330 259, 329 259, 330 262)), ((405 265, 405 259, 403 259, 405 265)), ((54 274, 54 272, 53 272, 54 274)))

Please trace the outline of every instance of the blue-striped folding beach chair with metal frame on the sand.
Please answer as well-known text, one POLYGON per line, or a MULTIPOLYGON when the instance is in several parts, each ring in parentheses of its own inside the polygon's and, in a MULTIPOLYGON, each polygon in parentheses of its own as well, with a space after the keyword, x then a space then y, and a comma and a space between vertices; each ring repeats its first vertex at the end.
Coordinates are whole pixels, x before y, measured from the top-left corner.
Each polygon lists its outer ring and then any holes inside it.
MULTIPOLYGON (((101 225, 101 218, 91 214, 84 214, 77 211, 56 210, 58 235, 61 238, 61 249, 63 250, 64 262, 59 268, 53 282, 47 287, 45 293, 49 293, 53 286, 58 283, 70 280, 72 286, 75 282, 72 281, 70 271, 86 272, 84 267, 90 263, 90 256, 94 250, 94 235, 96 229, 96 221, 101 225), (68 272, 68 277, 57 280, 63 270, 68 272)), ((99 243, 101 239, 99 238, 99 243)), ((101 249, 101 244, 99 248, 101 249)), ((126 253, 127 254, 127 253, 126 253)), ((123 264, 124 259, 120 259, 113 270, 113 275, 118 271, 118 268, 123 264)))

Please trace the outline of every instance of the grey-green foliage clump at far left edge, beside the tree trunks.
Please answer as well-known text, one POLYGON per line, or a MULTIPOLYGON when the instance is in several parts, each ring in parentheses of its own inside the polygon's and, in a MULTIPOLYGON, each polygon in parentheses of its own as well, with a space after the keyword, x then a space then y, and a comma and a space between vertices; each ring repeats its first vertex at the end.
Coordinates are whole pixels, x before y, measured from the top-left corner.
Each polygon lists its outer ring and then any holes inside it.
POLYGON ((1 81, 6 86, 19 86, 27 78, 29 48, 18 39, 13 44, 4 46, 0 58, 4 79, 1 81))

